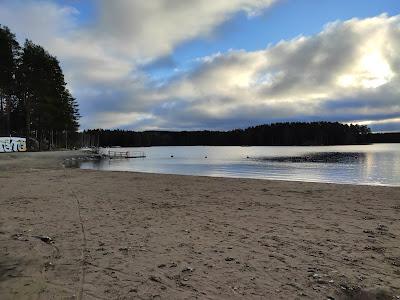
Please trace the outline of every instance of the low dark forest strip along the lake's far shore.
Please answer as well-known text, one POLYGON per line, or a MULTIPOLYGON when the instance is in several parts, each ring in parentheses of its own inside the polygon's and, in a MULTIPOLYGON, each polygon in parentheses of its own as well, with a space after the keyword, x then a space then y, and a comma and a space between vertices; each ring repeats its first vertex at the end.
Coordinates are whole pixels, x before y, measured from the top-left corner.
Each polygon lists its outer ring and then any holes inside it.
MULTIPOLYGON (((384 142, 388 136, 371 133, 367 126, 338 122, 274 123, 230 131, 125 131, 86 130, 79 133, 84 146, 302 146, 351 145, 384 142), (374 140, 376 139, 376 140, 374 140)), ((400 141, 400 134, 392 137, 400 141)))

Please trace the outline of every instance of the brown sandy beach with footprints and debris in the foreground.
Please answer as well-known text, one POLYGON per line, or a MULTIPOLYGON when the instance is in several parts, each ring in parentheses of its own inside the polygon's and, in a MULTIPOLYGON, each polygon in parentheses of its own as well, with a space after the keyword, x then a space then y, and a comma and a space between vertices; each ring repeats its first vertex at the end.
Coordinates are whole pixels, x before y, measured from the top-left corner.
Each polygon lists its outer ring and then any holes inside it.
POLYGON ((400 295, 400 188, 62 167, 81 155, 0 155, 0 299, 400 295))

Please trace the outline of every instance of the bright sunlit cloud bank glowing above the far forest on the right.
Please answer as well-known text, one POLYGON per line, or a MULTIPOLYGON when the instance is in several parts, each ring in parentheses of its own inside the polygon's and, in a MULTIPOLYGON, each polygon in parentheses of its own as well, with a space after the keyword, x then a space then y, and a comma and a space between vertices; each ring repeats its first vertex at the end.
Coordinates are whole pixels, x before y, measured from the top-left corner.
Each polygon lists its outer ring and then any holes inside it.
POLYGON ((158 117, 225 128, 250 123, 244 120, 400 116, 399 40, 400 16, 380 15, 328 24, 315 36, 260 51, 205 57, 159 91, 163 103, 185 105, 167 106, 158 117))

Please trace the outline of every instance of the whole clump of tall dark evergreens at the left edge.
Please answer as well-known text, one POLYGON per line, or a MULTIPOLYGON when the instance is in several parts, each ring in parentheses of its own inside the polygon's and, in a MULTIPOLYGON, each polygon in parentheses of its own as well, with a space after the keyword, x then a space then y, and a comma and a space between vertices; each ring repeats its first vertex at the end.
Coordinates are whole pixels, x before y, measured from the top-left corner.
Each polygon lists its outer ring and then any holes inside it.
POLYGON ((21 51, 15 35, 0 25, 0 136, 25 135, 50 146, 76 132, 79 117, 57 58, 29 40, 21 51))

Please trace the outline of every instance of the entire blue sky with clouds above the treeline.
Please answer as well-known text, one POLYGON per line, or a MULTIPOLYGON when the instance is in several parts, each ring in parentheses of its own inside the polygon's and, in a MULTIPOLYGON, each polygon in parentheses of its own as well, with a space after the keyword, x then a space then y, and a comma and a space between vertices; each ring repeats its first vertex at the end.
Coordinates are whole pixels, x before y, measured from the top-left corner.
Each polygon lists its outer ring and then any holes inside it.
POLYGON ((81 129, 339 121, 400 131, 399 0, 0 0, 81 129))

